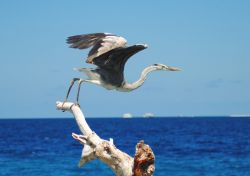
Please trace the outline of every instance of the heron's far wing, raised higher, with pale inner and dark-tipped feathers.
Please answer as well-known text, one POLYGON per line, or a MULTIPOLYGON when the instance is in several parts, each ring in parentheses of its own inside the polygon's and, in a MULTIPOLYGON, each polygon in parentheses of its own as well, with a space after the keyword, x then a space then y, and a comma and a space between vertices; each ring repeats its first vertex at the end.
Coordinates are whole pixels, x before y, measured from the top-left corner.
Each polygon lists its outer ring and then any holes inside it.
POLYGON ((93 63, 93 59, 96 57, 115 48, 124 47, 127 41, 123 37, 110 33, 93 33, 68 37, 67 43, 71 44, 71 48, 78 49, 86 49, 93 46, 86 60, 87 63, 93 63))

